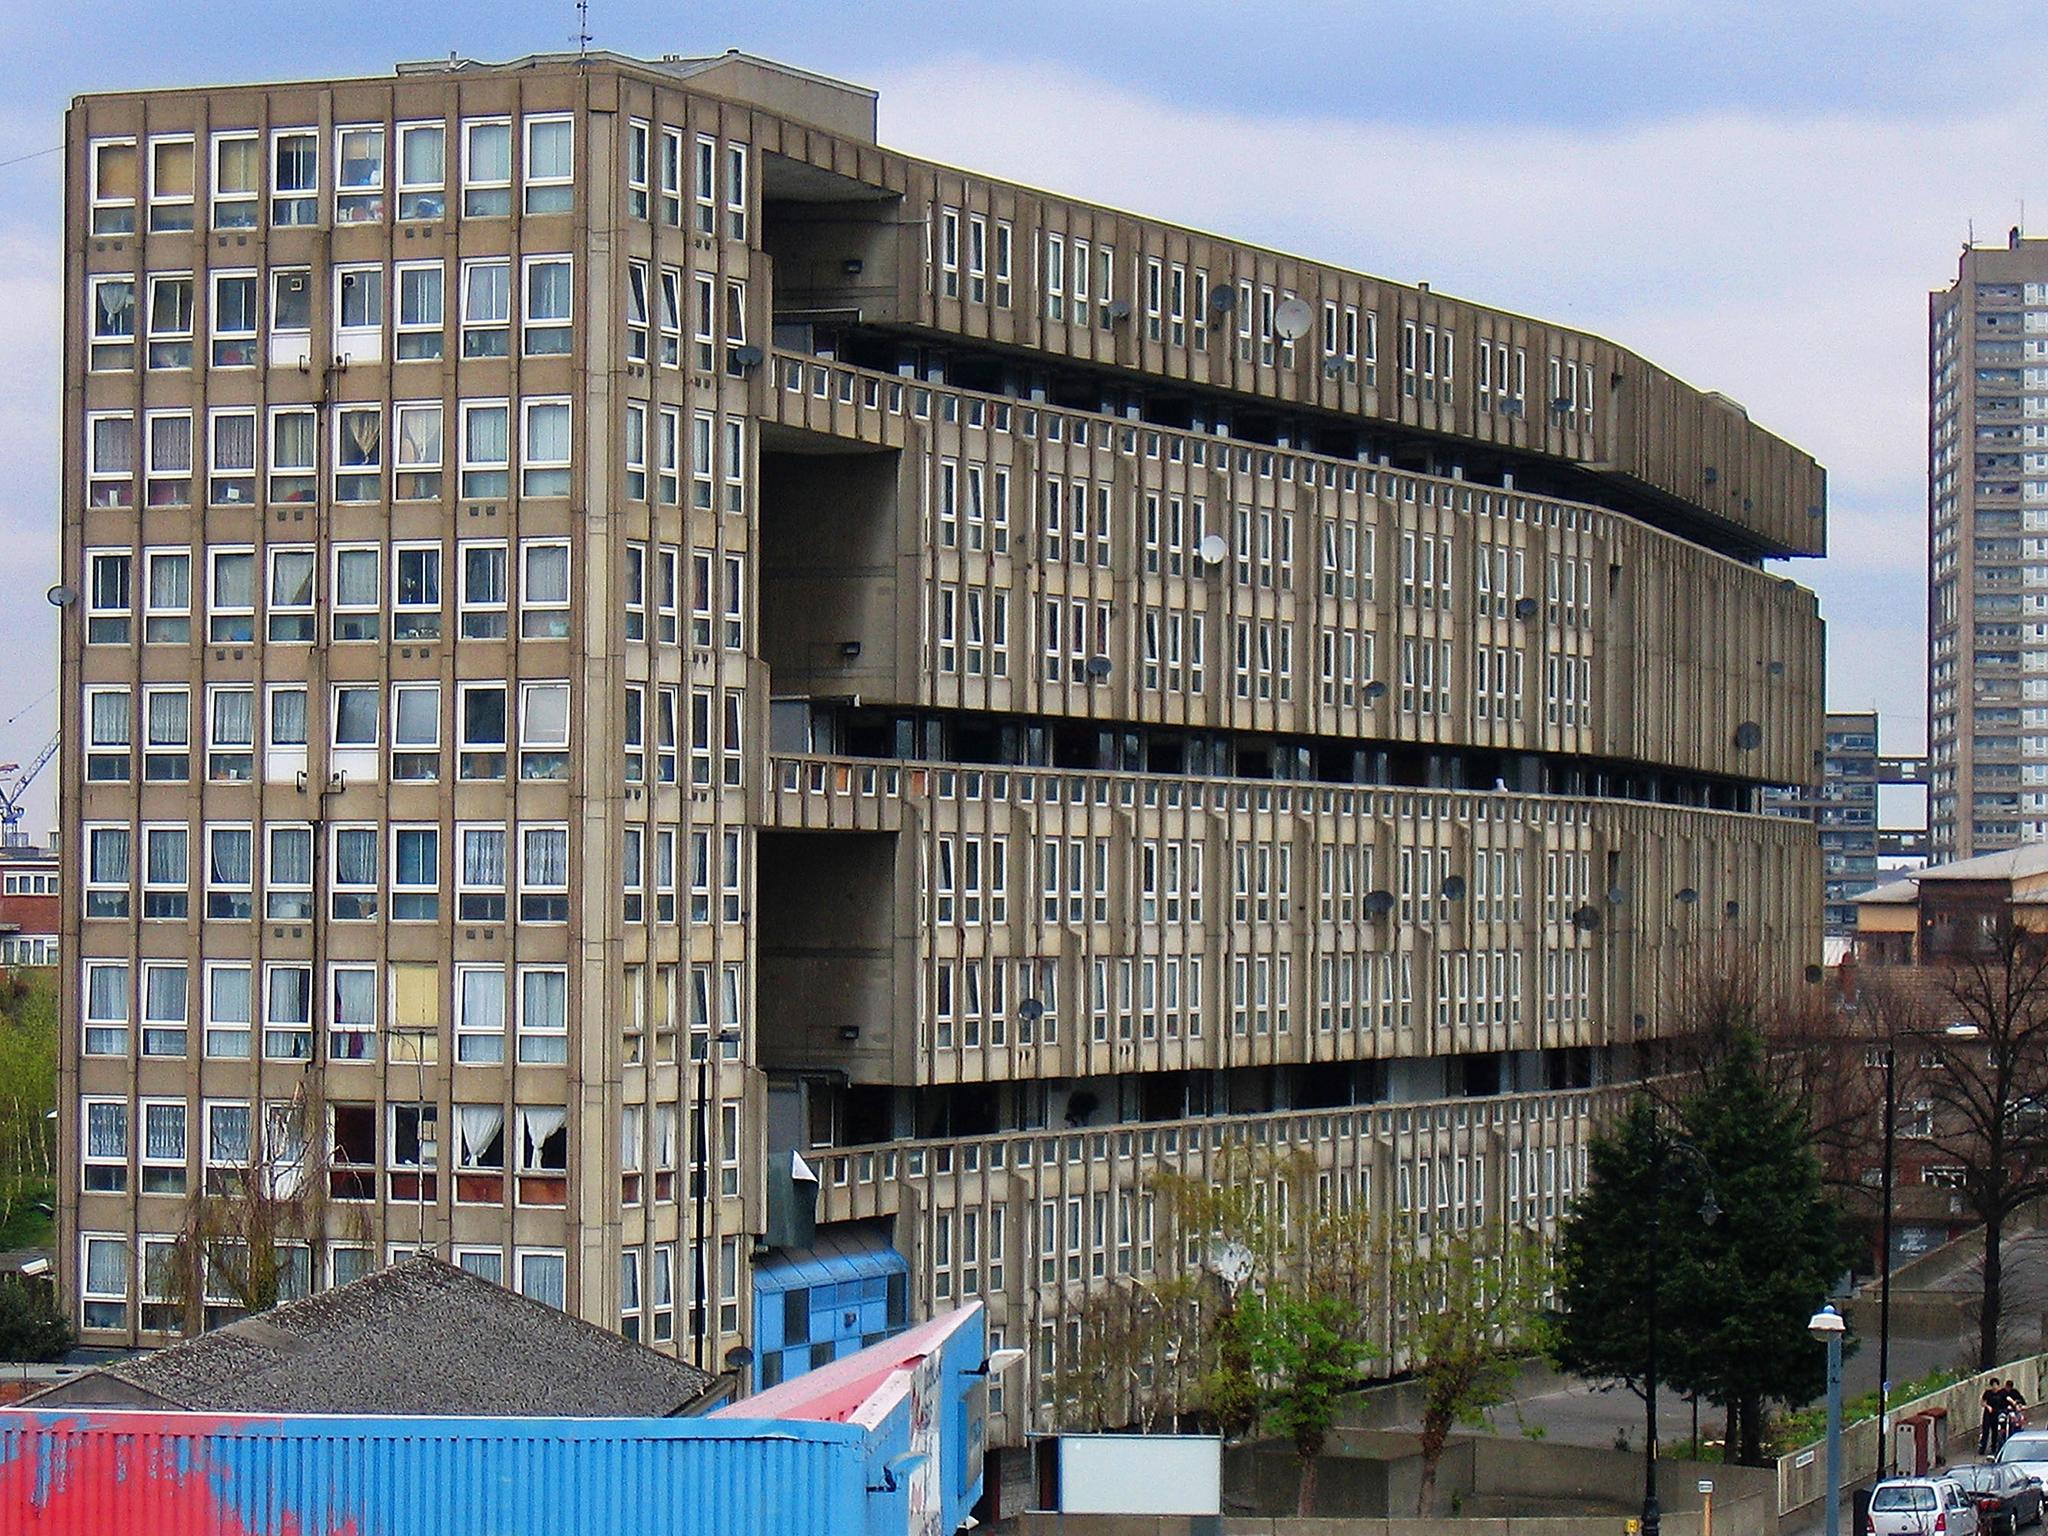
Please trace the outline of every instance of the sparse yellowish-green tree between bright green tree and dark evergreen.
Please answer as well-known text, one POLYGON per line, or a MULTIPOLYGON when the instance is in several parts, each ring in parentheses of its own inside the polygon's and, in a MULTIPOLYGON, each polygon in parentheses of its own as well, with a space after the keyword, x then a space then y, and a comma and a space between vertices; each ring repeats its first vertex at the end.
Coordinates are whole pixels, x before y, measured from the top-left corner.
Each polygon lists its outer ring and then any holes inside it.
POLYGON ((1434 1513, 1450 1432, 1485 1423, 1538 1352, 1544 1286, 1542 1247, 1522 1233, 1450 1233, 1393 1255, 1401 1346, 1423 1397, 1417 1516, 1434 1513))

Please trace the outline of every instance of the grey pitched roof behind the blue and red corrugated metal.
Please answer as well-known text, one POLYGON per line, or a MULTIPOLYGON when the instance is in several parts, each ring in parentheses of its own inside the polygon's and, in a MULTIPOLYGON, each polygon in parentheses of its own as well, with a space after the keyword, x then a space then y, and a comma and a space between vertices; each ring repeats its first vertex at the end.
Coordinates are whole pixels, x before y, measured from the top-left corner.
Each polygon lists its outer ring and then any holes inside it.
POLYGON ((682 1360, 422 1255, 84 1372, 51 1399, 133 1401, 139 1389, 209 1413, 666 1417, 711 1384, 682 1360), (106 1376, 102 1397, 94 1378, 106 1376))

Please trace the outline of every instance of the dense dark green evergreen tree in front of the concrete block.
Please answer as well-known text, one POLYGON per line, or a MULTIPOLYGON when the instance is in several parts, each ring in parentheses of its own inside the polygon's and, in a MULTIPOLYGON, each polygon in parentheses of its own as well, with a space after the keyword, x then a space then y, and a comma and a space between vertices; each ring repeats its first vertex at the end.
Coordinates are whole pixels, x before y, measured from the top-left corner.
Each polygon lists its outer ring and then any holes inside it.
POLYGON ((1671 1118, 1638 1098, 1593 1143, 1559 1239, 1552 1354, 1640 1395, 1655 1303, 1659 1380, 1726 1409, 1735 1458, 1757 1462, 1765 1407, 1823 1382, 1806 1319, 1849 1245, 1806 1118, 1751 1030, 1731 1034, 1671 1118))

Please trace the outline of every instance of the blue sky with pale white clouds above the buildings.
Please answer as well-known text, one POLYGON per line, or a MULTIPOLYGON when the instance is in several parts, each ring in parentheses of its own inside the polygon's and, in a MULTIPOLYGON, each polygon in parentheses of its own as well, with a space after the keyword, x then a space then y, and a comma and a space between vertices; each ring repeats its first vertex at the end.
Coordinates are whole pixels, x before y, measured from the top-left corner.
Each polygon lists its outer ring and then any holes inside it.
MULTIPOLYGON (((1823 598, 1831 702, 1919 745, 1927 291, 2028 199, 2048 233, 2048 6, 592 0, 590 31, 840 74, 905 150, 1583 326, 1735 395, 1831 471, 1835 553, 1790 567, 1823 598)), ((68 98, 573 33, 569 0, 0 6, 0 760, 55 729, 43 152, 68 98)))

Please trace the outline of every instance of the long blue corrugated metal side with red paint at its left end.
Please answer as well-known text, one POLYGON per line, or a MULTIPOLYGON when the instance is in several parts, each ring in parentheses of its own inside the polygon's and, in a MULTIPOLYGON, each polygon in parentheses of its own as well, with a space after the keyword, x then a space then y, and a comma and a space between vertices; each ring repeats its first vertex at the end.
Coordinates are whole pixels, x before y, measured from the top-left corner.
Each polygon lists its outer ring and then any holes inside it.
POLYGON ((713 1419, 0 1411, 0 1530, 39 1536, 883 1536, 862 1430, 713 1419))

